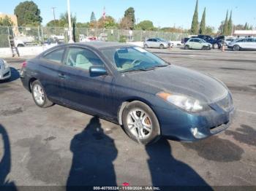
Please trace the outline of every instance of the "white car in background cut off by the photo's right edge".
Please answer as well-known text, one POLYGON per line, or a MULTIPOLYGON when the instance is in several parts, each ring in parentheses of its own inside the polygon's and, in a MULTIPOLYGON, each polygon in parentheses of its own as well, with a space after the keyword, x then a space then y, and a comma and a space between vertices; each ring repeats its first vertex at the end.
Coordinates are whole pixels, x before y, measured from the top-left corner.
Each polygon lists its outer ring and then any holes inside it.
POLYGON ((227 47, 235 51, 256 50, 256 38, 237 39, 227 44, 227 47))

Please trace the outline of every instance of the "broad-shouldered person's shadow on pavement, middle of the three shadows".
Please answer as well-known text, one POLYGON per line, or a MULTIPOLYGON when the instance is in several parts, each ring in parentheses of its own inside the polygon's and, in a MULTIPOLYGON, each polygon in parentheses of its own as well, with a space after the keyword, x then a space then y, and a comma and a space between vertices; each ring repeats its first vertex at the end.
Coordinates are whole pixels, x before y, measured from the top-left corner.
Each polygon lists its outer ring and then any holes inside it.
POLYGON ((93 117, 70 144, 72 165, 67 179, 67 190, 84 186, 116 186, 113 160, 118 151, 114 140, 105 135, 98 117, 93 117))

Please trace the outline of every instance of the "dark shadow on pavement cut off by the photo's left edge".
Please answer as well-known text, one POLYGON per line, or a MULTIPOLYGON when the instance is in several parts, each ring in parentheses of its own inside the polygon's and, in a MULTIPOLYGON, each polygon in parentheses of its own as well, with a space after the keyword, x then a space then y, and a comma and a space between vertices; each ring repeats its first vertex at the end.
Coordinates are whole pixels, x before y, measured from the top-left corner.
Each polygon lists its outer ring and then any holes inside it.
MULTIPOLYGON (((4 153, 0 158, 0 190, 17 190, 14 182, 7 179, 11 171, 11 149, 10 140, 5 128, 0 124, 0 138, 3 142, 4 153)), ((0 140, 1 140, 0 139, 0 140)))

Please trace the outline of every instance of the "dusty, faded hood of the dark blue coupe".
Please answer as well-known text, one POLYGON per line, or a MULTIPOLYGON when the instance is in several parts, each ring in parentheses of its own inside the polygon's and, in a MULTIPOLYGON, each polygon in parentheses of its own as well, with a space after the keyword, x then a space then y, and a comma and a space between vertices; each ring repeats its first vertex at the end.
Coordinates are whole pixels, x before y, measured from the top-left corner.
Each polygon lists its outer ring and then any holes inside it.
POLYGON ((208 104, 225 98, 228 93, 227 87, 218 79, 175 65, 129 73, 127 77, 148 93, 182 94, 208 104))

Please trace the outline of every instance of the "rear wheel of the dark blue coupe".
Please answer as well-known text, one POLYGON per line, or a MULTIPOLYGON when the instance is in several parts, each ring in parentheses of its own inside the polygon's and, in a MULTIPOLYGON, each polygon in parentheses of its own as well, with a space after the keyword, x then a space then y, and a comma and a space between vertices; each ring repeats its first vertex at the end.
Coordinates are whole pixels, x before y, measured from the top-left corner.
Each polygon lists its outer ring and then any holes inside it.
POLYGON ((53 105, 53 102, 48 100, 45 89, 42 87, 39 80, 32 82, 31 93, 34 103, 37 104, 37 106, 46 108, 53 105))

